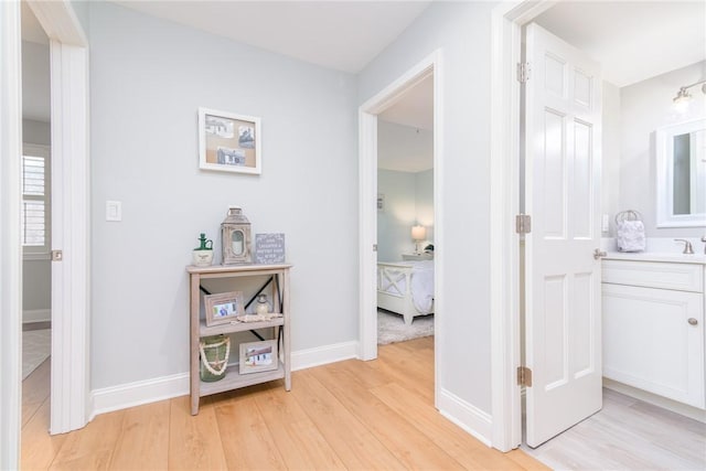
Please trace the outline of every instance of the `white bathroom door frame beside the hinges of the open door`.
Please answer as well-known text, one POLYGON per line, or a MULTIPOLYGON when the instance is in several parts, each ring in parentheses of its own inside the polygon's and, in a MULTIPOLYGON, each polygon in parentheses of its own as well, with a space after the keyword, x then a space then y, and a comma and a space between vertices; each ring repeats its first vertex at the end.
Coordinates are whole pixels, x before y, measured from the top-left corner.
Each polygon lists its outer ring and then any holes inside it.
POLYGON ((491 389, 492 445, 510 451, 522 443, 520 331, 520 105, 516 64, 522 57, 522 25, 556 0, 512 0, 491 17, 491 389))

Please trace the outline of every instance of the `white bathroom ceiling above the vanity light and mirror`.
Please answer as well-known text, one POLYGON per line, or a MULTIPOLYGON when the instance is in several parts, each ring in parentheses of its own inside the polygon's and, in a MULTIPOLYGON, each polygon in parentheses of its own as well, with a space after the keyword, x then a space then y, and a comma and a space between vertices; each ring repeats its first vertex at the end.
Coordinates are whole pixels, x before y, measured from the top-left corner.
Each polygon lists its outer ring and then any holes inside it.
POLYGON ((624 87, 706 60, 706 1, 559 2, 535 19, 624 87))

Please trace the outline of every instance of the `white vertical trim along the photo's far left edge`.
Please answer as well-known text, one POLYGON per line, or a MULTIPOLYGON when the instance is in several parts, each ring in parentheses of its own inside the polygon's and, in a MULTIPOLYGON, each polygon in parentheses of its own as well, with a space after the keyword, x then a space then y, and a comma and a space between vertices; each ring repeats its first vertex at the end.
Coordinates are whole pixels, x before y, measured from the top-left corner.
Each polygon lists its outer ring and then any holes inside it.
POLYGON ((0 469, 20 464, 22 55, 20 2, 0 2, 0 469))

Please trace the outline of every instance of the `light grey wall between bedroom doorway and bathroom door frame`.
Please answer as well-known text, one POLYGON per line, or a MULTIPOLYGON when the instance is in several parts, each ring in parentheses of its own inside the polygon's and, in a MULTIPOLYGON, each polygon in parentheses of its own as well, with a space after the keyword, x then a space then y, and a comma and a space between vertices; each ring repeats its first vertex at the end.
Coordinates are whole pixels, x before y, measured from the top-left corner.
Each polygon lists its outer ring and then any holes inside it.
MULTIPOLYGON (((490 25, 493 2, 434 2, 359 79, 365 103, 437 49, 442 49, 443 240, 449 260, 438 286, 443 298, 442 394, 479 418, 491 410, 490 25)), ((436 79, 436 78, 435 78, 436 79)), ((435 169, 439 171, 439 169, 435 169)), ((437 220, 438 224, 438 220, 437 220)), ((443 407, 447 404, 442 405, 443 407)), ((488 416, 484 416, 488 417, 488 416)))

